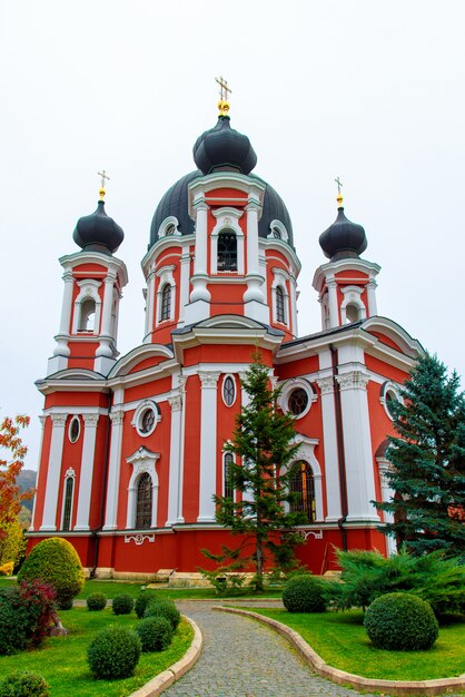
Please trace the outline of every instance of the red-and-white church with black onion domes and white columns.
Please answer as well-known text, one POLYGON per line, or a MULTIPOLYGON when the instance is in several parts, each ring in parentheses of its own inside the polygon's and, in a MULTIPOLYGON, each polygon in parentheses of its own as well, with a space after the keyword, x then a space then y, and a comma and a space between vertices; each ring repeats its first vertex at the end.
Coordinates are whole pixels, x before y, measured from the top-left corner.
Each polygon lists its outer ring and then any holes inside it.
POLYGON ((257 156, 224 97, 218 122, 194 145, 196 168, 155 212, 145 327, 127 355, 117 350, 123 232, 103 187, 97 210, 77 223, 79 251, 60 258, 60 326, 37 383, 44 410, 29 547, 65 537, 98 577, 191 573, 208 566, 202 548, 234 542, 212 497, 239 495, 224 448, 256 347, 281 386, 279 408, 295 416, 300 562, 324 573, 334 547, 389 552, 372 501, 392 495, 392 403, 423 348, 378 316, 379 266, 362 256, 365 230, 347 219, 340 188, 313 281, 321 324, 298 336, 291 220, 255 174, 257 156))

